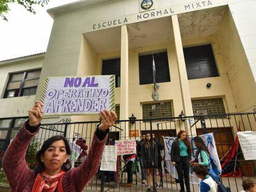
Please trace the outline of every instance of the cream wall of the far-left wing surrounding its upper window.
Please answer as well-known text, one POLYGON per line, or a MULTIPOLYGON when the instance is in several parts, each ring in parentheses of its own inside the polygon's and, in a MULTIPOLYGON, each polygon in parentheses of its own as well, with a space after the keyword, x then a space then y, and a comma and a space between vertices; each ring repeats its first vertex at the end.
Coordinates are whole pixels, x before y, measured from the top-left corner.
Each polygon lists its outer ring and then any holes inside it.
POLYGON ((33 107, 35 96, 22 96, 19 98, 6 98, 4 92, 9 80, 9 74, 24 70, 40 69, 43 65, 43 56, 0 64, 0 118, 28 116, 28 109, 33 107))

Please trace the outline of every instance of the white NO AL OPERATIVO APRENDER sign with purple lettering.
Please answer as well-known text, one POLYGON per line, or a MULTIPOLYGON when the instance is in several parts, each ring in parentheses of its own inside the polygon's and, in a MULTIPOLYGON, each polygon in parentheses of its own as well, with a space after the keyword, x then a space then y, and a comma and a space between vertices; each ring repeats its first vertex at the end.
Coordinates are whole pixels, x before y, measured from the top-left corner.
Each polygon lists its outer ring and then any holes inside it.
POLYGON ((41 93, 44 115, 98 114, 115 108, 115 76, 48 77, 41 93))

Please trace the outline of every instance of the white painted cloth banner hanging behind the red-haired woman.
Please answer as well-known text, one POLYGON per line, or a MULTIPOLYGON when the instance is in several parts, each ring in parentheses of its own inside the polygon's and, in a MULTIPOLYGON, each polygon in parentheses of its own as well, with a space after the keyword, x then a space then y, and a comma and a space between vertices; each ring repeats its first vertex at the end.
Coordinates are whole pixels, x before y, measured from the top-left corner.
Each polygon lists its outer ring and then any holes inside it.
MULTIPOLYGON (((200 135, 205 142, 205 145, 207 146, 211 156, 215 159, 218 168, 221 170, 221 164, 220 164, 220 159, 218 156, 218 152, 216 149, 216 144, 215 140, 213 137, 213 133, 207 133, 205 135, 200 135)), ((166 170, 174 177, 178 178, 176 168, 171 164, 171 144, 173 144, 173 141, 176 139, 175 137, 169 137, 169 136, 164 136, 164 151, 165 151, 165 162, 166 162, 166 170)), ((197 152, 197 147, 195 147, 194 144, 194 137, 189 137, 190 144, 192 146, 192 160, 195 159, 195 154, 197 152)), ((190 172, 190 183, 192 184, 198 184, 200 183, 200 180, 197 178, 195 173, 190 172)))

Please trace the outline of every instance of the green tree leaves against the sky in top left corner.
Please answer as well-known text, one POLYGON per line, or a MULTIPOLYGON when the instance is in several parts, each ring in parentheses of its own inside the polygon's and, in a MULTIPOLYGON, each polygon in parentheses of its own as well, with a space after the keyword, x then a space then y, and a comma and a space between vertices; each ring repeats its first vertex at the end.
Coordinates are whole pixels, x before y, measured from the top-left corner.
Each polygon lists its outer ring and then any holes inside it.
POLYGON ((40 5, 45 6, 47 5, 49 0, 0 0, 0 17, 3 20, 7 20, 6 15, 9 12, 9 4, 10 3, 17 3, 22 5, 25 9, 27 9, 32 14, 36 14, 33 6, 40 5))

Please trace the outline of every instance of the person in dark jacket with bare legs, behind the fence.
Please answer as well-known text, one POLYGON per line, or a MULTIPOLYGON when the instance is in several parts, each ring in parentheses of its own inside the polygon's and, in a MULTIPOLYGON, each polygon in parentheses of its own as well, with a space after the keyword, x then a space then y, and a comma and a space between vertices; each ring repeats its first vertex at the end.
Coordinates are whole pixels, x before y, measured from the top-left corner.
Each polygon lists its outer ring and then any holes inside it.
POLYGON ((146 134, 146 140, 142 143, 141 154, 147 172, 147 191, 150 191, 150 172, 153 177, 154 170, 158 168, 158 149, 155 141, 150 141, 150 133, 146 134))

